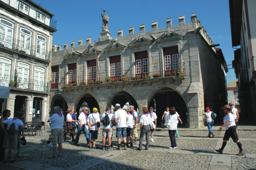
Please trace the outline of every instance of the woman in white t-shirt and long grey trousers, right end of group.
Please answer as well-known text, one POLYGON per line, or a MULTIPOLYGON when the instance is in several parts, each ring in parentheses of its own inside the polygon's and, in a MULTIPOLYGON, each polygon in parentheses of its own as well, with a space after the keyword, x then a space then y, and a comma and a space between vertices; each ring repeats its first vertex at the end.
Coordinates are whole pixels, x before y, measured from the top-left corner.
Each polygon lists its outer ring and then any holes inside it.
POLYGON ((151 121, 151 118, 148 114, 149 109, 147 107, 143 107, 143 115, 140 117, 140 136, 139 136, 139 148, 137 150, 142 149, 142 142, 143 137, 146 134, 146 145, 145 149, 149 149, 149 135, 150 135, 150 127, 149 127, 149 121, 151 121))

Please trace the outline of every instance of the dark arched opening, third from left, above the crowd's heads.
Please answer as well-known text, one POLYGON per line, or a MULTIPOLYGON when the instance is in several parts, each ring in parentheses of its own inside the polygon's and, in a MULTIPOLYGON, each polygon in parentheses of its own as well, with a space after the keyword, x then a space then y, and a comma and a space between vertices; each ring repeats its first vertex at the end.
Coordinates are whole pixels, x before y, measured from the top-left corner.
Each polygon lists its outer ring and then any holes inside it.
POLYGON ((117 95, 112 99, 111 104, 112 106, 115 106, 117 103, 120 104, 121 108, 125 107, 127 108, 128 106, 134 106, 134 109, 137 111, 138 110, 138 104, 131 96, 129 93, 125 91, 121 91, 117 93, 117 95))

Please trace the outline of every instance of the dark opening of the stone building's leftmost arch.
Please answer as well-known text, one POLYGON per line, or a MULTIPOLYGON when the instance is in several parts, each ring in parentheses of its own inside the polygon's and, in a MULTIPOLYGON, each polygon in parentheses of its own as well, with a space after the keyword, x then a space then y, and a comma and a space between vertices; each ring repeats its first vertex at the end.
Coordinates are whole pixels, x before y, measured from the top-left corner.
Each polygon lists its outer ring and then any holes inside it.
POLYGON ((66 119, 66 115, 67 115, 67 109, 68 109, 68 104, 65 101, 65 99, 60 96, 60 95, 55 95, 53 96, 52 102, 51 102, 51 110, 50 110, 50 116, 53 115, 53 108, 55 106, 59 106, 62 110, 63 110, 63 114, 65 116, 64 119, 66 119))

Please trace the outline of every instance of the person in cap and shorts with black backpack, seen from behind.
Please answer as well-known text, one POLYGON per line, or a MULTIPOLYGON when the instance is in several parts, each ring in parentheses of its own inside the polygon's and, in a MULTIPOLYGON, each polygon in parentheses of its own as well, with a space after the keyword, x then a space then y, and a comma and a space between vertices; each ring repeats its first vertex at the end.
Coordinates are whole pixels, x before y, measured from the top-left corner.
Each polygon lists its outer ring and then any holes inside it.
POLYGON ((112 142, 112 135, 113 135, 113 121, 115 120, 114 115, 111 112, 111 108, 106 109, 106 113, 103 113, 101 115, 101 122, 104 121, 104 118, 107 116, 109 118, 109 125, 103 125, 103 130, 102 130, 102 145, 103 145, 103 150, 113 150, 111 147, 111 142, 112 142), (108 138, 108 147, 106 145, 106 139, 108 138))

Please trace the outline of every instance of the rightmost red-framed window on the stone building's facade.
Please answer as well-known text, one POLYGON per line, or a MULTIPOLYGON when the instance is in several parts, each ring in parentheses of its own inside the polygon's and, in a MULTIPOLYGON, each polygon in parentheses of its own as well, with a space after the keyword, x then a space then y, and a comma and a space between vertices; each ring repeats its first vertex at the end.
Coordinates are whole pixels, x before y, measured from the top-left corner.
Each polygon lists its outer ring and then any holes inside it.
POLYGON ((163 48, 165 73, 172 73, 173 70, 179 69, 179 52, 178 46, 163 48))

